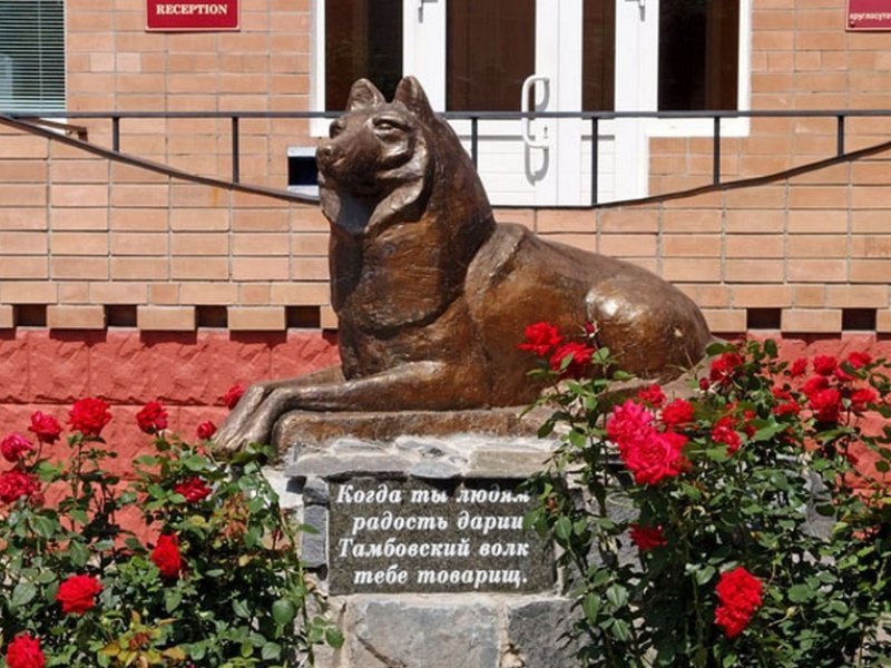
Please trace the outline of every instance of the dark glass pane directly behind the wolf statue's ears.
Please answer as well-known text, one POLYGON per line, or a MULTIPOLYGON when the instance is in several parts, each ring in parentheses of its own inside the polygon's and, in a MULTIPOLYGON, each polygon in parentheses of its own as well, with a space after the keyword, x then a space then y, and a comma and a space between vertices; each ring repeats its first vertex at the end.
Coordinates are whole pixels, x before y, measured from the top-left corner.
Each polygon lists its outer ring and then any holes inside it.
POLYGON ((392 98, 402 78, 402 0, 325 0, 325 109, 346 108, 363 77, 392 98))

